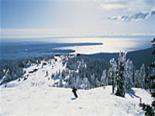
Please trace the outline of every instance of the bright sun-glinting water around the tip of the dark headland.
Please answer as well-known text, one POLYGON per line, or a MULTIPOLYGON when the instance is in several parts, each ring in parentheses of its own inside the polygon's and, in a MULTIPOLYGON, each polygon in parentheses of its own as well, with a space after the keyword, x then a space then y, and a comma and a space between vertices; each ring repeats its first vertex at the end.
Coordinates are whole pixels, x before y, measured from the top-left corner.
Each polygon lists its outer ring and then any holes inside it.
POLYGON ((99 42, 101 45, 92 46, 69 46, 61 49, 72 49, 75 53, 96 54, 96 53, 116 53, 120 51, 130 52, 150 48, 153 36, 107 36, 92 38, 67 38, 63 42, 99 42))

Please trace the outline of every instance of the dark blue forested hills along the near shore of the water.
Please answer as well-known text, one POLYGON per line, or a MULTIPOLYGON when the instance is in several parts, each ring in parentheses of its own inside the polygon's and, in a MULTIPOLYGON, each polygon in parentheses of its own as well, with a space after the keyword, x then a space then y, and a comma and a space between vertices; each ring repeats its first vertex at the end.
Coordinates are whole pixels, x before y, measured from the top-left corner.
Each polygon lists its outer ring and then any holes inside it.
MULTIPOLYGON (((60 49, 61 50, 61 49, 60 49)), ((63 51, 62 51, 63 52, 63 51)), ((53 58, 54 56, 61 56, 61 55, 76 55, 77 57, 81 58, 90 58, 92 60, 104 60, 104 61, 109 61, 112 58, 117 58, 119 52, 114 52, 114 53, 107 53, 107 52, 102 52, 102 53, 95 53, 95 54, 80 54, 80 53, 75 53, 74 50, 66 50, 66 53, 55 53, 51 55, 43 55, 43 56, 36 56, 36 57, 29 57, 29 58, 23 58, 23 59, 1 59, 0 60, 0 65, 4 66, 8 63, 17 63, 17 62, 22 62, 22 61, 29 61, 29 60, 43 60, 43 59, 50 59, 53 58), (67 53, 70 51, 70 53, 67 53)), ((141 63, 146 63, 146 65, 149 65, 153 61, 153 55, 152 55, 152 47, 146 48, 146 49, 141 49, 141 50, 134 50, 130 51, 127 53, 127 58, 138 62, 137 66, 141 63), (143 57, 147 56, 147 57, 143 57)))

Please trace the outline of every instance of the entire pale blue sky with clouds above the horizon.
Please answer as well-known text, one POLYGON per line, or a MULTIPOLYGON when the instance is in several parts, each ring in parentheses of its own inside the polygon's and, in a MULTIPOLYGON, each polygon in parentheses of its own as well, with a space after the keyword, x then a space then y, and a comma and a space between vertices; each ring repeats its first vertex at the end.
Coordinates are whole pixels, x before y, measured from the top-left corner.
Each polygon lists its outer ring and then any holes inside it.
POLYGON ((0 0, 1 38, 155 35, 155 0, 0 0))

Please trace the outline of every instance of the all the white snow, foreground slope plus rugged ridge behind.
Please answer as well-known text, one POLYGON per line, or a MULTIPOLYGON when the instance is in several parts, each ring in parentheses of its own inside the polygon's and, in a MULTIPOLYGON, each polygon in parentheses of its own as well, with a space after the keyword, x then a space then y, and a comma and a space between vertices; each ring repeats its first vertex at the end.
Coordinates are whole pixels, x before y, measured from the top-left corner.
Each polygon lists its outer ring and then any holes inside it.
POLYGON ((70 88, 53 87, 51 75, 65 68, 64 58, 33 64, 24 69, 26 80, 0 86, 0 116, 144 116, 139 97, 147 104, 152 98, 143 89, 133 88, 125 98, 111 94, 111 86, 78 90, 75 99, 70 88))

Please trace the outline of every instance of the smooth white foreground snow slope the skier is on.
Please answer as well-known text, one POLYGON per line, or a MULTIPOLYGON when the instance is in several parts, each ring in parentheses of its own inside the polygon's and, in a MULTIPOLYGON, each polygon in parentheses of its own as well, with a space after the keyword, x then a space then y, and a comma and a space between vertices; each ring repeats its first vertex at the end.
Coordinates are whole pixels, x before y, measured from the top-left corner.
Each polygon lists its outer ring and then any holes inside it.
MULTIPOLYGON (((150 94, 134 89, 143 102, 150 103, 150 94)), ((139 98, 111 94, 111 86, 78 90, 74 99, 71 89, 48 86, 1 88, 1 116, 144 116, 139 98)))

